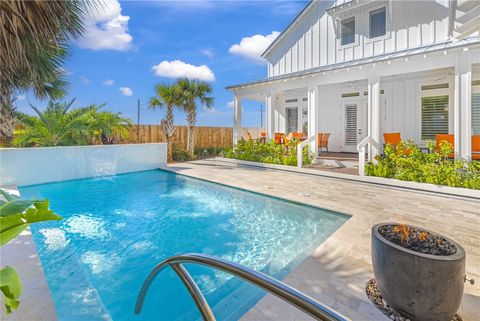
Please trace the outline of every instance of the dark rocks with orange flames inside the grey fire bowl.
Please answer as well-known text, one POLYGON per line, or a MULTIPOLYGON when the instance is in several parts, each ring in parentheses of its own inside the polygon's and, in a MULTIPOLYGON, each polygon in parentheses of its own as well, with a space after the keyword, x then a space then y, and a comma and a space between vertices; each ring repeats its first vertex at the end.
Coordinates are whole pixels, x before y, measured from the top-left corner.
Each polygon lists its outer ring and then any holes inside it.
POLYGON ((457 247, 440 235, 433 235, 408 225, 403 225, 403 228, 402 230, 398 225, 383 225, 378 232, 388 241, 415 252, 440 256, 453 255, 457 252, 457 247))

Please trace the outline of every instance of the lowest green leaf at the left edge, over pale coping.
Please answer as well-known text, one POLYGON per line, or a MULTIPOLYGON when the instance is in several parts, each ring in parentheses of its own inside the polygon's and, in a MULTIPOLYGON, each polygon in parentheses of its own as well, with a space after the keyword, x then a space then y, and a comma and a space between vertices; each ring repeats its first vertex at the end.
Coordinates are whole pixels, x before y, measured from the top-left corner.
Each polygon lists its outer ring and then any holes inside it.
POLYGON ((6 266, 0 269, 0 291, 7 314, 12 313, 18 308, 18 298, 22 294, 22 283, 14 268, 6 266))

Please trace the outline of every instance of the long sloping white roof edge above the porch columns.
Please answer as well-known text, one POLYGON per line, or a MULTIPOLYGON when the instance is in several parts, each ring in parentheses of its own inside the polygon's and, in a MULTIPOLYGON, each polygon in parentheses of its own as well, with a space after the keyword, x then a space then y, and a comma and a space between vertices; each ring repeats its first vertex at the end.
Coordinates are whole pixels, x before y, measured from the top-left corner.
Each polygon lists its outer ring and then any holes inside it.
POLYGON ((395 60, 407 61, 408 58, 410 57, 424 56, 425 54, 441 53, 441 52, 447 53, 455 50, 458 51, 458 50, 464 49, 464 47, 472 46, 472 45, 475 45, 476 48, 480 48, 479 46, 480 39, 478 37, 472 37, 472 38, 467 38, 467 39, 456 41, 456 42, 449 41, 449 42, 440 43, 440 44, 407 49, 407 50, 397 51, 394 53, 378 55, 375 57, 357 59, 349 62, 342 62, 342 63, 332 64, 332 65, 327 65, 322 67, 311 68, 308 70, 302 70, 294 73, 289 73, 286 75, 259 79, 255 81, 238 84, 238 85, 228 86, 226 87, 226 89, 235 91, 235 90, 245 89, 250 87, 267 88, 270 85, 279 84, 282 82, 286 82, 288 80, 305 78, 306 76, 316 76, 316 75, 324 74, 327 72, 337 72, 340 70, 348 70, 350 68, 359 69, 362 66, 374 65, 376 63, 387 64, 390 61, 395 61, 395 60))

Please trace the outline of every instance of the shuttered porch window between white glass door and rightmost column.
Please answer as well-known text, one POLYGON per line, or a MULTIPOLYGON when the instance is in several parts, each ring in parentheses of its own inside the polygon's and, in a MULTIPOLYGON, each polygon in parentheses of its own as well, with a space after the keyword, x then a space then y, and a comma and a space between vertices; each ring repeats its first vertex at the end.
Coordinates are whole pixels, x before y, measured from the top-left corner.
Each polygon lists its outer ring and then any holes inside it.
POLYGON ((422 140, 448 134, 448 95, 422 97, 422 140))

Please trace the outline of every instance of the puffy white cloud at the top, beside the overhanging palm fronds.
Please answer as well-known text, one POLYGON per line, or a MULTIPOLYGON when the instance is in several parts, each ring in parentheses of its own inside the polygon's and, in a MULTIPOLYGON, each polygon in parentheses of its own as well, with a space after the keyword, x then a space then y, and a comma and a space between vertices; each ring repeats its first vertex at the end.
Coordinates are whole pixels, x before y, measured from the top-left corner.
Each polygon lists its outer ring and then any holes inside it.
POLYGON ((128 33, 129 20, 129 16, 122 15, 118 0, 103 0, 102 5, 88 12, 85 34, 78 40, 78 46, 92 50, 130 49, 133 37, 128 33))

